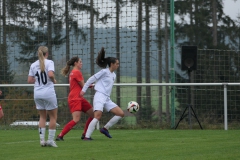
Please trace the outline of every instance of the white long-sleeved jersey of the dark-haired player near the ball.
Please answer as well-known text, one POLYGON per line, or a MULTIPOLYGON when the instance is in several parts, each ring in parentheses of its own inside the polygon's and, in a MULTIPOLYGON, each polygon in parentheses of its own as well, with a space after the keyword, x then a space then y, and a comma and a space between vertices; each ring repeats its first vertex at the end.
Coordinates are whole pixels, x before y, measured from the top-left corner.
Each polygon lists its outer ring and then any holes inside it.
POLYGON ((110 97, 115 79, 116 74, 110 72, 109 68, 102 69, 87 80, 82 91, 86 92, 90 84, 96 82, 94 89, 110 97))

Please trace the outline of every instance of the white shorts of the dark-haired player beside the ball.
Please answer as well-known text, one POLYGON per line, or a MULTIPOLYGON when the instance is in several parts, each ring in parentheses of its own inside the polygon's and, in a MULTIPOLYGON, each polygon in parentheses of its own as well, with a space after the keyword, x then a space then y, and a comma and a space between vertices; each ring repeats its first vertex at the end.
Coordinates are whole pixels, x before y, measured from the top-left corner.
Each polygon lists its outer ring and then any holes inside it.
POLYGON ((109 112, 111 109, 117 107, 118 105, 115 104, 110 97, 102 94, 100 92, 96 92, 93 98, 93 109, 94 111, 102 111, 103 108, 109 112))

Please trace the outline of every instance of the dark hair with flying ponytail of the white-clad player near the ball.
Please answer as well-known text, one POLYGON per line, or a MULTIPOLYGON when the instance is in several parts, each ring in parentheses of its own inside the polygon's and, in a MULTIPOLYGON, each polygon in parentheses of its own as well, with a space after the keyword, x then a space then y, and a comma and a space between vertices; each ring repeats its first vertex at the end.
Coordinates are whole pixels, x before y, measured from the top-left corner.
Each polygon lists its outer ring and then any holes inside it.
POLYGON ((106 68, 107 65, 110 67, 111 63, 115 63, 116 60, 117 58, 114 58, 114 57, 105 58, 105 50, 104 50, 104 47, 102 47, 100 52, 98 52, 96 63, 99 67, 106 68))

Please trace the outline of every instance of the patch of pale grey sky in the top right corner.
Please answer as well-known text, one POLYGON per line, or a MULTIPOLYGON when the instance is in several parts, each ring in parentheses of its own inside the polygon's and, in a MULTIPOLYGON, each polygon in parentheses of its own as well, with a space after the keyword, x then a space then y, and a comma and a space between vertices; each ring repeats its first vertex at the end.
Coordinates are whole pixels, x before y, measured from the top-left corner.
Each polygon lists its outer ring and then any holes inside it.
POLYGON ((229 15, 232 19, 237 19, 240 16, 240 0, 223 0, 224 12, 229 15), (236 1, 236 2, 235 2, 236 1))

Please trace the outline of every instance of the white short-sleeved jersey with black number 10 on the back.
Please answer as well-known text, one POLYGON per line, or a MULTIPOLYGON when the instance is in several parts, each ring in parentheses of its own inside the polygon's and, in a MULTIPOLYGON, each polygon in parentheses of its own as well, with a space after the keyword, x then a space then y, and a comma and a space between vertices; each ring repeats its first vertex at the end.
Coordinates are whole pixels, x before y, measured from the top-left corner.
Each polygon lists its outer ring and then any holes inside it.
POLYGON ((48 76, 49 71, 54 72, 54 62, 52 60, 45 59, 45 71, 41 72, 39 60, 32 63, 28 76, 35 78, 34 84, 34 97, 44 98, 55 96, 54 83, 48 76))

